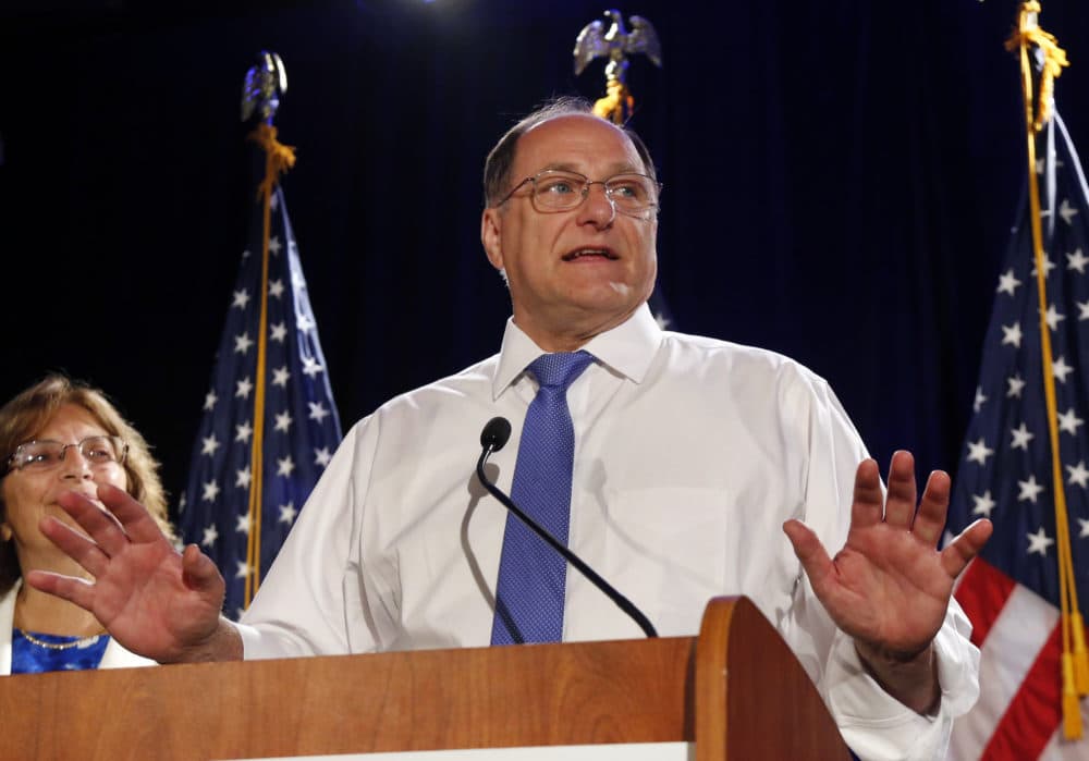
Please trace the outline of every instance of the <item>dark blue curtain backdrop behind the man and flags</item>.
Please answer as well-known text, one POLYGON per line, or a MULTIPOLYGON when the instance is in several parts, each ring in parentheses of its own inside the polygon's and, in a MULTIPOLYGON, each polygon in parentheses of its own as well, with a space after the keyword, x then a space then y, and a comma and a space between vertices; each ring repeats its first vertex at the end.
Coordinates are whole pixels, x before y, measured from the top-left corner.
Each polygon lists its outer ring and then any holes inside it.
MULTIPOLYGON (((346 425, 495 351, 484 156, 603 88, 571 59, 597 0, 23 4, 0 11, 0 396, 58 368, 103 386, 175 495, 245 241, 258 50, 287 69, 284 188, 346 425)), ((954 467, 1024 175, 1017 3, 617 4, 664 49, 631 84, 677 327, 809 365, 882 462, 954 467)), ((1044 0, 1041 24, 1089 151, 1089 11, 1044 0)))

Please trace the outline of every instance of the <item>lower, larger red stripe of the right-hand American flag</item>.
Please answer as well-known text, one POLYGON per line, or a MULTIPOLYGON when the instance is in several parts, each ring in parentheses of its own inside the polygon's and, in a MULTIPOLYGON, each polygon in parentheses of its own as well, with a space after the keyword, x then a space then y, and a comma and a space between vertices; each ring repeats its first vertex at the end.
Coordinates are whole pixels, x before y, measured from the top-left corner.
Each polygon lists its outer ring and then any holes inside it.
POLYGON ((1025 761, 1043 751, 1062 721, 1061 649, 1056 626, 995 726, 980 761, 1025 761))

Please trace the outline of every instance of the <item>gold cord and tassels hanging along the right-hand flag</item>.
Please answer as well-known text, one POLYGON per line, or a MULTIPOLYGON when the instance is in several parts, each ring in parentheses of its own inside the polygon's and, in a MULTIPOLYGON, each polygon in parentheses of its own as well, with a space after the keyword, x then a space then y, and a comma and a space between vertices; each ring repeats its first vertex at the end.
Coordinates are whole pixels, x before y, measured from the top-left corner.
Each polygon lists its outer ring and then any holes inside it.
MULTIPOLYGON (((1052 484, 1055 494, 1055 533, 1059 547, 1059 590, 1063 635, 1063 736, 1081 737, 1081 711, 1078 698, 1089 691, 1089 659, 1086 655, 1085 625, 1078 605, 1070 550, 1069 516, 1063 487, 1062 461, 1059 447, 1059 413, 1055 403, 1055 377, 1052 369, 1051 332, 1048 327, 1048 270, 1044 266, 1043 231, 1040 224, 1040 186, 1036 171, 1036 136, 1051 120, 1055 77, 1068 65, 1066 52, 1055 38, 1037 25, 1040 3, 1021 3, 1017 29, 1006 40, 1007 50, 1019 50, 1021 93, 1025 99, 1025 127, 1028 140, 1029 213, 1032 225, 1032 253, 1036 261, 1036 283, 1040 307, 1040 347, 1043 364, 1043 395, 1048 410, 1048 434, 1051 442, 1052 484), (1033 109, 1032 62, 1029 50, 1035 46, 1043 54, 1039 93, 1033 109), (1036 112, 1033 114, 1033 111, 1036 112)), ((1047 157, 1051 159, 1051 157, 1047 157)))

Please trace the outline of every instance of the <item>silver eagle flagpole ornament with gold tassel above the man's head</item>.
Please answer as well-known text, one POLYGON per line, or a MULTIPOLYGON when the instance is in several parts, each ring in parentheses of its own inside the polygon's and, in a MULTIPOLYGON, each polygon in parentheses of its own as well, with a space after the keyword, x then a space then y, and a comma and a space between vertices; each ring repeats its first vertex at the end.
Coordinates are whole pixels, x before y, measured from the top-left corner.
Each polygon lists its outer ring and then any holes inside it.
POLYGON ((646 56, 659 69, 662 65, 662 46, 653 25, 643 16, 631 16, 632 30, 624 26, 624 16, 615 9, 604 12, 612 20, 609 28, 604 22, 591 21, 575 38, 575 76, 582 74, 596 58, 607 58, 605 97, 594 103, 594 112, 614 124, 623 124, 632 115, 635 99, 627 89, 628 56, 646 56))

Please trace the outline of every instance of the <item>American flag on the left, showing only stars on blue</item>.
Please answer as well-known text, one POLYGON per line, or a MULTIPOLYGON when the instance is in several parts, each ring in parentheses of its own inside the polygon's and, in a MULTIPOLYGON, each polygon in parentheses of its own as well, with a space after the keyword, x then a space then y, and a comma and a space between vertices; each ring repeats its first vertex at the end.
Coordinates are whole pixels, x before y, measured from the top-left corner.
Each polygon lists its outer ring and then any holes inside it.
POLYGON ((262 287, 264 209, 258 201, 180 507, 182 538, 199 544, 216 561, 227 580, 224 612, 233 618, 246 604, 249 537, 259 548, 256 565, 264 578, 341 440, 326 359, 279 184, 269 205, 267 287, 262 287), (255 422, 262 292, 268 305, 264 419, 255 422), (252 472, 257 435, 264 440, 259 521, 250 518, 249 511, 250 489, 257 486, 252 472))

